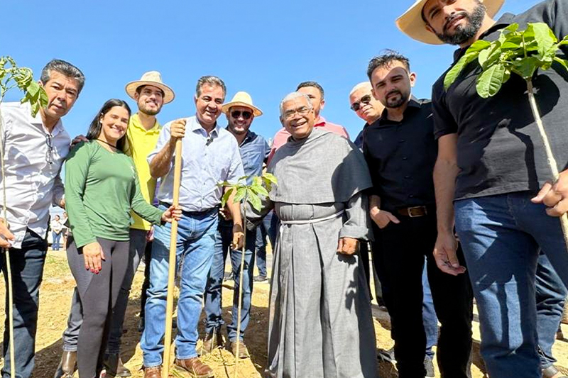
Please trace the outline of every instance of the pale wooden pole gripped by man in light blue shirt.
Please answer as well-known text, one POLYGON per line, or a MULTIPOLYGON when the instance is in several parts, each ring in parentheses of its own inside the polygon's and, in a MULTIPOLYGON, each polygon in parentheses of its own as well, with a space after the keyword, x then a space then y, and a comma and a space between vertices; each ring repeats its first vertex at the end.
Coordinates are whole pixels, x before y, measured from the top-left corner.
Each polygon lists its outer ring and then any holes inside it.
MULTIPOLYGON (((180 182, 182 173, 182 140, 175 141, 175 158, 173 168, 173 206, 180 204, 180 182)), ((168 270, 168 299, 165 304, 165 335, 162 378, 170 374, 170 349, 172 347, 173 290, 175 282, 175 258, 178 245, 178 221, 172 219, 170 235, 170 260, 168 270)))

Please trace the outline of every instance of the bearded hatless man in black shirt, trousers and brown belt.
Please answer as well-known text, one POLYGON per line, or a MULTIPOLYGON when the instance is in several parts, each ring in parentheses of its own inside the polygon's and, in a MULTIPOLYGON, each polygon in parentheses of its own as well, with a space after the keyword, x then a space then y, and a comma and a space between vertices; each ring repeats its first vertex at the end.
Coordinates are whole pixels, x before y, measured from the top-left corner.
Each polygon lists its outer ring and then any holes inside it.
MULTIPOLYGON (((373 96, 386 106, 365 129, 364 155, 373 179, 371 218, 381 228, 378 257, 386 271, 392 337, 400 378, 424 377, 422 267, 427 257, 434 306, 442 323, 437 360, 442 377, 469 376, 471 287, 466 274, 436 267, 436 209, 432 170, 437 155, 432 107, 410 95, 416 75, 394 52, 374 57, 368 77, 373 96)), ((462 268, 463 269, 463 268, 462 268)))

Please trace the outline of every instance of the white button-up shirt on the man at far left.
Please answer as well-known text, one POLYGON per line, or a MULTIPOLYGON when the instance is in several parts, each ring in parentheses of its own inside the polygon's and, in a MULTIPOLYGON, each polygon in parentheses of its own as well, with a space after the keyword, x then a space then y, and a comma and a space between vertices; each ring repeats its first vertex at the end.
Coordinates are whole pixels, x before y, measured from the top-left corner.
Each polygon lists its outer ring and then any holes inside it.
POLYGON ((21 248, 26 228, 44 237, 48 230, 49 208, 63 197, 60 179, 71 138, 61 120, 49 133, 38 113, 31 116, 29 104, 0 104, 4 145, 4 169, 0 172, 0 209, 4 206, 3 180, 13 248, 21 248))

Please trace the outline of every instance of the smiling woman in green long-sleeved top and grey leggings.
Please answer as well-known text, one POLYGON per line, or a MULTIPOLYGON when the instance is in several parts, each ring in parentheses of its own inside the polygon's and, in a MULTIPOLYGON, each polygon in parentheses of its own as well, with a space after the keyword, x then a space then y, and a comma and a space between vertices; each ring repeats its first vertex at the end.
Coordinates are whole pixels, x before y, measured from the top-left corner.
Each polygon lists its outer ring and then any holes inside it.
POLYGON ((65 201, 73 233, 67 260, 77 281, 83 323, 77 340, 81 378, 98 377, 109 319, 129 261, 130 211, 154 224, 179 219, 171 206, 162 212, 143 199, 124 140, 131 111, 111 99, 91 123, 87 139, 65 163, 65 201))

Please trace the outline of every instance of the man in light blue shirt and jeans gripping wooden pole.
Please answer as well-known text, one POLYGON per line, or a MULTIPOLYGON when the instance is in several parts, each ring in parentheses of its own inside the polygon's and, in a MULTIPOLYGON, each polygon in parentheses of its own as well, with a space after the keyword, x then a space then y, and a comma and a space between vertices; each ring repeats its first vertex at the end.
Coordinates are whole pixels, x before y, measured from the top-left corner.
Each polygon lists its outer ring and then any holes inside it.
MULTIPOLYGON (((178 335, 175 338, 175 367, 190 377, 213 376, 211 367, 197 357, 197 323, 207 276, 211 269, 217 236, 219 204, 223 189, 219 182, 236 183, 244 175, 239 145, 234 136, 219 127, 226 88, 222 79, 204 76, 197 81, 195 116, 167 123, 160 131, 158 144, 148 155, 152 177, 162 177, 158 199, 160 208, 173 203, 175 144, 182 139, 182 181, 178 223, 180 296, 178 299, 178 335), (187 131, 186 131, 187 129, 187 131)), ((243 243, 241 206, 227 202, 233 219, 232 247, 243 243)), ((169 225, 169 223, 168 223, 169 225)), ((150 264, 150 288, 146 299, 146 324, 142 334, 144 377, 161 374, 163 337, 165 334, 166 298, 171 226, 154 228, 150 264)), ((177 270, 177 269, 176 269, 177 270)))

